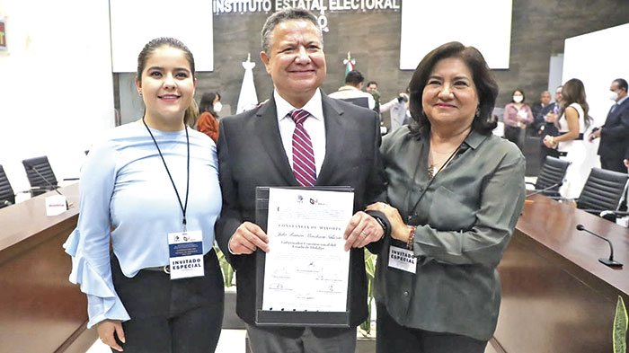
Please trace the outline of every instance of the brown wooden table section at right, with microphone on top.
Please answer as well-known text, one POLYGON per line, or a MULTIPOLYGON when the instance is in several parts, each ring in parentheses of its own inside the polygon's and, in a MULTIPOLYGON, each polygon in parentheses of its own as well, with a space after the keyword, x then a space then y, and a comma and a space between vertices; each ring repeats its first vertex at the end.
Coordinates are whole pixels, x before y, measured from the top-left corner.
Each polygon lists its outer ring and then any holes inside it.
POLYGON ((629 305, 629 229, 542 195, 528 198, 498 267, 501 313, 492 339, 508 353, 611 353, 616 301, 629 305), (598 261, 609 245, 613 269, 598 261))

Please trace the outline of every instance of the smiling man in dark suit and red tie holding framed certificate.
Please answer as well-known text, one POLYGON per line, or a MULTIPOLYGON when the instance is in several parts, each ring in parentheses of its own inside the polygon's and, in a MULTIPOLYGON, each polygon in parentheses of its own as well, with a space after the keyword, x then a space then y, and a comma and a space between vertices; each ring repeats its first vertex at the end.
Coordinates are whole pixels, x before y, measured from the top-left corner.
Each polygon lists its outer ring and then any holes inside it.
POLYGON ((273 96, 261 107, 221 119, 217 144, 223 210, 216 237, 236 270, 236 313, 247 324, 254 353, 353 352, 356 326, 367 317, 363 247, 377 243, 388 228, 381 213, 362 212, 385 190, 377 114, 319 90, 325 78, 323 37, 306 10, 290 8, 267 19, 261 60, 273 80, 273 96), (272 251, 267 234, 254 223, 257 186, 354 189, 355 214, 344 234, 350 251, 350 329, 255 324, 254 252, 272 251))

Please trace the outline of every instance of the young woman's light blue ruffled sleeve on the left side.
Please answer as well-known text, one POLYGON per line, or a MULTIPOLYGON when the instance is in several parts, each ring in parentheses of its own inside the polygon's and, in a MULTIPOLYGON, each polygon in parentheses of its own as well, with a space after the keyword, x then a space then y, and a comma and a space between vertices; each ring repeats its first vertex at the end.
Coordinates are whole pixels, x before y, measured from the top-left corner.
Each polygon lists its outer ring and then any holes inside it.
POLYGON ((64 243, 72 256, 70 282, 87 295, 87 328, 105 319, 129 320, 113 287, 110 263, 110 200, 116 181, 115 150, 93 147, 81 172, 80 212, 76 229, 64 243))

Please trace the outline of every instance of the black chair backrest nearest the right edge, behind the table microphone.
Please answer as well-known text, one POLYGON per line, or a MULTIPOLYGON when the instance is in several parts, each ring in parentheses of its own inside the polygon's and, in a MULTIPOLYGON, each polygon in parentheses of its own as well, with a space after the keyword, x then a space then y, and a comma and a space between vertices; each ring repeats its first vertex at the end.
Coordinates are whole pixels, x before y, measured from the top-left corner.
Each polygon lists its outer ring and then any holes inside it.
POLYGON ((577 208, 593 210, 590 212, 593 214, 605 210, 616 211, 625 195, 627 180, 627 173, 592 168, 577 200, 577 208))

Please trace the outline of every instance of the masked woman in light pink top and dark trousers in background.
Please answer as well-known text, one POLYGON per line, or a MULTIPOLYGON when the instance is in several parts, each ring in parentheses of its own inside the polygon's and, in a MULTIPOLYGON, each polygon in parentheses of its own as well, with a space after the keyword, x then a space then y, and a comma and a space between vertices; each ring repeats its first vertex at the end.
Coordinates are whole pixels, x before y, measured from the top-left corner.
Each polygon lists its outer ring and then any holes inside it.
POLYGON ((522 90, 513 91, 512 97, 511 102, 504 107, 504 137, 521 151, 524 148, 524 129, 533 122, 533 111, 524 102, 522 90))

